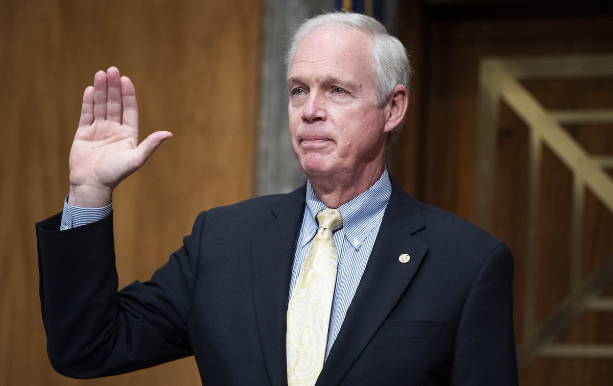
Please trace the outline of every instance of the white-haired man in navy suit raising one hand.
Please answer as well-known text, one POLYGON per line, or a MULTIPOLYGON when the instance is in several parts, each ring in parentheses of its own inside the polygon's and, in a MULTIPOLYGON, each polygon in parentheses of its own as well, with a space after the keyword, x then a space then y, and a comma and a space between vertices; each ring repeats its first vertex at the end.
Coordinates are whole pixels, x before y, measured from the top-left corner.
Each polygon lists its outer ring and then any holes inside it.
POLYGON ((136 146, 131 81, 98 72, 64 214, 37 224, 53 366, 97 377, 194 355, 203 384, 517 384, 508 248, 384 168, 408 72, 372 18, 303 23, 287 86, 307 186, 201 213, 151 281, 120 292, 111 194, 172 134, 136 146))

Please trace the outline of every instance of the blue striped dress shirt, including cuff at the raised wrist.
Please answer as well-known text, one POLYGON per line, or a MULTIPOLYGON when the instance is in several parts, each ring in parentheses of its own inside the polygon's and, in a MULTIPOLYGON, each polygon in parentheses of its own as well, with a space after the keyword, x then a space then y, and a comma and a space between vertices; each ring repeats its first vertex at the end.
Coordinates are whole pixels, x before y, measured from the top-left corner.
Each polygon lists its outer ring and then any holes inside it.
MULTIPOLYGON (((387 170, 383 170, 381 178, 367 191, 338 207, 341 218, 343 218, 343 227, 333 234, 334 245, 338 252, 338 269, 330 314, 326 358, 330 354, 330 348, 337 338, 349 304, 351 304, 357 286, 360 284, 391 194, 392 184, 387 170)), ((307 182, 307 205, 302 217, 302 227, 300 227, 299 236, 296 240, 288 302, 311 241, 317 233, 318 225, 315 216, 325 208, 327 208, 326 204, 318 199, 311 183, 307 182)), ((68 205, 66 199, 64 200, 64 213, 60 230, 99 221, 109 216, 111 211, 112 203, 103 208, 79 208, 68 205)))

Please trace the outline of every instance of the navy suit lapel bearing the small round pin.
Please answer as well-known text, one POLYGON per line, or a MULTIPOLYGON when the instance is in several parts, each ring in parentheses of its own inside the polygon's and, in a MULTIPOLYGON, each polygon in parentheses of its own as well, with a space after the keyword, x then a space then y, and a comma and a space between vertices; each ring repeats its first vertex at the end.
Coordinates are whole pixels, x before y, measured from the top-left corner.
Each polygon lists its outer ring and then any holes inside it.
POLYGON ((397 304, 425 258, 427 246, 411 236, 424 226, 416 200, 392 179, 392 196, 373 251, 318 385, 340 384, 397 304), (401 254, 409 254, 410 260, 401 263, 401 254))

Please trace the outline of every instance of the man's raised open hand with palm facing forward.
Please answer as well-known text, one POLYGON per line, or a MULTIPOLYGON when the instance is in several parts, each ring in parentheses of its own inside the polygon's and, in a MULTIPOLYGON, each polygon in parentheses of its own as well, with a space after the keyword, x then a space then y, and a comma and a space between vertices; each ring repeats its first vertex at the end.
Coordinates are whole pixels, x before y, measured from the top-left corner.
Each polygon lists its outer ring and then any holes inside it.
POLYGON ((110 203, 113 189, 140 168, 172 133, 158 131, 139 145, 134 85, 116 67, 98 71, 83 93, 83 107, 70 149, 69 205, 110 203))

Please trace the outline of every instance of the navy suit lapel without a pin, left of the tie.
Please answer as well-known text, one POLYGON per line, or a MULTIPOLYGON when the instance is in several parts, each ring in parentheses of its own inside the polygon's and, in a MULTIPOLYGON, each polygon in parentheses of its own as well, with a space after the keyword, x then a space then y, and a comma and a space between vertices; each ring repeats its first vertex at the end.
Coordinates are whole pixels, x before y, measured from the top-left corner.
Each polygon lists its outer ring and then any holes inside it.
POLYGON ((253 229, 252 279, 257 327, 272 385, 287 384, 286 312, 305 187, 282 196, 253 229))

